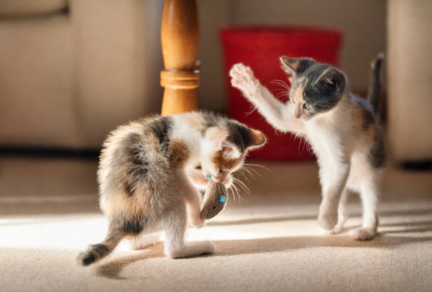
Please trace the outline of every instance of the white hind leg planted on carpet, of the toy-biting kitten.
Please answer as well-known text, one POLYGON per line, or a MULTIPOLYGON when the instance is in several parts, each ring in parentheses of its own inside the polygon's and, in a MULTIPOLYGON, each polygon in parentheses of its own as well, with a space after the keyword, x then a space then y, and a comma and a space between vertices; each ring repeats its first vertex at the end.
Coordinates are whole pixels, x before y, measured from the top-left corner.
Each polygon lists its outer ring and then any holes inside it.
POLYGON ((184 243, 186 232, 186 207, 179 202, 163 219, 165 230, 164 253, 167 257, 192 257, 214 253, 215 247, 210 241, 184 243))

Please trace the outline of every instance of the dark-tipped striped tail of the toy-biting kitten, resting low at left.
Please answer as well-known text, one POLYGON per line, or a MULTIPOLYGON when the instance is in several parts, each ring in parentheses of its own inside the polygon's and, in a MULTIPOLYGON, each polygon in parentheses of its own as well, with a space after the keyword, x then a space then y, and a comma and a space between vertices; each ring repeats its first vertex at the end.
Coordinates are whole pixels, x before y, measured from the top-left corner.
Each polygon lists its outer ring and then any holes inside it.
POLYGON ((102 243, 92 244, 85 252, 80 253, 78 255, 78 262, 83 264, 83 266, 88 266, 93 262, 97 262, 102 259, 102 257, 109 255, 122 238, 124 238, 124 232, 114 226, 110 226, 104 241, 102 241, 102 243))

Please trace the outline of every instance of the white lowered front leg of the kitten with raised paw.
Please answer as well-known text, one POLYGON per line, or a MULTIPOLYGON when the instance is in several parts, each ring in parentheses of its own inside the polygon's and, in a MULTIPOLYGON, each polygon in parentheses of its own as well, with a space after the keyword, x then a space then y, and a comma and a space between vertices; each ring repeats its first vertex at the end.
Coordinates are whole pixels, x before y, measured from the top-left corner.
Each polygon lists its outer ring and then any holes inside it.
POLYGON ((321 185, 323 188, 323 200, 320 205, 318 224, 324 229, 324 233, 331 232, 338 221, 338 206, 342 191, 349 175, 349 163, 340 163, 336 166, 321 166, 321 185))

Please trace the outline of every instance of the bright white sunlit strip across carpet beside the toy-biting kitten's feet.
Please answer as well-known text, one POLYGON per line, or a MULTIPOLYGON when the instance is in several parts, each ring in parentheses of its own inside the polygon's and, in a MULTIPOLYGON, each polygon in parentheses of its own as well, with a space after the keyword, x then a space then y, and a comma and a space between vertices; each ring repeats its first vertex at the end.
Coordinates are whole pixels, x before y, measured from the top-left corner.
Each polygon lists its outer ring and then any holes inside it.
MULTIPOLYGON (((294 225, 299 224, 301 228, 294 228, 293 222, 278 221, 277 217, 275 221, 268 217, 263 223, 227 225, 230 218, 229 214, 224 214, 221 222, 212 220, 210 226, 188 229, 186 241, 246 240, 272 237, 275 232, 279 236, 290 236, 311 235, 318 231, 315 220, 296 221, 294 225)), ((7 217, 0 219, 0 248, 83 250, 88 244, 102 241, 107 226, 107 219, 102 214, 7 217)), ((127 241, 118 249, 128 250, 127 241)))

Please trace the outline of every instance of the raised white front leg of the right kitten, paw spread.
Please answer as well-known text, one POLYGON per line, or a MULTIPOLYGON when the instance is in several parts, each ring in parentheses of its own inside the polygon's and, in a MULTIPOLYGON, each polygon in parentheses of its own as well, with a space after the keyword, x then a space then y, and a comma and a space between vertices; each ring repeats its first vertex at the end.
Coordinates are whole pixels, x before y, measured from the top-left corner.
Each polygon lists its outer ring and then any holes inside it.
POLYGON ((251 68, 241 63, 235 64, 231 71, 232 86, 243 92, 244 97, 251 102, 265 119, 277 130, 304 134, 304 124, 294 119, 292 104, 284 104, 276 99, 267 87, 260 84, 253 75, 251 68))

